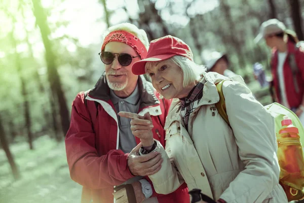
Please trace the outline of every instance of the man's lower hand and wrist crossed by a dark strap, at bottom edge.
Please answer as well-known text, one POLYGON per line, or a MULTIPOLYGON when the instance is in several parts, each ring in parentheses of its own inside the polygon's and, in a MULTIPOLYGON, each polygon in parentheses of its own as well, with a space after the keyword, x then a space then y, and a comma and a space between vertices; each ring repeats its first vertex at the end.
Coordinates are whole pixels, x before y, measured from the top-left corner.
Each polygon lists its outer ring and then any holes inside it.
MULTIPOLYGON (((132 183, 134 194, 136 197, 136 203, 141 203, 145 200, 145 196, 142 193, 141 183, 139 181, 132 183)), ((117 192, 113 193, 114 199, 116 203, 128 203, 128 195, 126 188, 122 188, 117 192)), ((130 202, 131 203, 131 202, 130 202)))

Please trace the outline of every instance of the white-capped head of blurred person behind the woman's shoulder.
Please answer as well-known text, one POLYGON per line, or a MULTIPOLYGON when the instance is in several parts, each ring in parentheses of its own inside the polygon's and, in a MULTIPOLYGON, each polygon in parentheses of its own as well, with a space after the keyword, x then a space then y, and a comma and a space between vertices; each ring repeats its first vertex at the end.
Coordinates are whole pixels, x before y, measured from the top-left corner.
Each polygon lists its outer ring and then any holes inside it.
POLYGON ((229 70, 229 60, 226 54, 212 52, 206 62, 207 72, 216 72, 226 77, 237 76, 229 70))

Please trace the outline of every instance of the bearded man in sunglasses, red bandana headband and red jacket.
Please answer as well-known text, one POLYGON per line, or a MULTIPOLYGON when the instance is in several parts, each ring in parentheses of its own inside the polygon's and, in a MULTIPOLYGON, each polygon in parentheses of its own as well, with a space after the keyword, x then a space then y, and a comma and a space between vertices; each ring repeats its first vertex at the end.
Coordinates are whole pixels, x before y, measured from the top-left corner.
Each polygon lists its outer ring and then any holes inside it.
POLYGON ((127 111, 150 118, 154 139, 165 146, 171 101, 160 99, 151 83, 131 71, 147 48, 144 30, 130 23, 110 27, 99 53, 105 73, 73 101, 65 146, 70 176, 83 185, 82 202, 189 202, 185 185, 167 195, 155 192, 147 176, 160 170, 161 155, 139 156, 144 143, 133 136, 131 119, 117 116, 127 111))

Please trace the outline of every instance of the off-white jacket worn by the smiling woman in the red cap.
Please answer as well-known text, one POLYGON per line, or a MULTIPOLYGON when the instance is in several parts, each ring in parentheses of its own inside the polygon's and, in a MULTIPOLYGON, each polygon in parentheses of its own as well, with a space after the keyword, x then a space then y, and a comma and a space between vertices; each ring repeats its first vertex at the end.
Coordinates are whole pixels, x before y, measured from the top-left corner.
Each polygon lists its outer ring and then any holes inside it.
POLYGON ((188 131, 180 115, 180 101, 174 99, 166 119, 166 151, 161 170, 149 176, 158 193, 176 190, 184 181, 189 190, 199 188, 214 200, 228 203, 287 202, 279 185, 280 167, 274 119, 235 81, 223 83, 230 125, 214 108, 219 101, 215 83, 226 79, 205 73, 203 97, 191 114, 188 131), (214 113, 213 113, 214 112, 214 113))

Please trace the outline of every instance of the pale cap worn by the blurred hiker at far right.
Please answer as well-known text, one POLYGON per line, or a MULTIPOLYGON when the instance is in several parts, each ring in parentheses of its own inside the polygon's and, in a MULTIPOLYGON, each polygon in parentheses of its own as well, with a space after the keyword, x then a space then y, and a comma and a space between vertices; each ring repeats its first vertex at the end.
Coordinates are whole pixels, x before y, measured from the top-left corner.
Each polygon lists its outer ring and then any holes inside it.
POLYGON ((261 41, 261 39, 269 35, 275 35, 284 32, 285 30, 286 26, 284 25, 284 23, 282 23, 278 19, 270 19, 261 24, 259 33, 254 39, 254 42, 258 43, 261 41))

